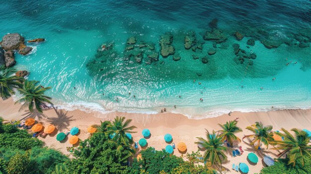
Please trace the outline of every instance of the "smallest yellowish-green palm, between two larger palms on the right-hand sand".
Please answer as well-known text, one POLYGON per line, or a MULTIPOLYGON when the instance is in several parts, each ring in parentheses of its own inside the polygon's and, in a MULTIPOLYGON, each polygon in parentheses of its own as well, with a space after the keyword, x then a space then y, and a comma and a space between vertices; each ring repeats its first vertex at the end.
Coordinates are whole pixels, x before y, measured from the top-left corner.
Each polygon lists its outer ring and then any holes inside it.
POLYGON ((223 137, 223 141, 227 140, 230 145, 233 145, 233 140, 241 141, 237 136, 235 136, 235 133, 241 132, 242 129, 236 126, 237 121, 227 121, 226 124, 218 124, 223 128, 223 130, 219 130, 217 132, 221 132, 220 136, 223 137))

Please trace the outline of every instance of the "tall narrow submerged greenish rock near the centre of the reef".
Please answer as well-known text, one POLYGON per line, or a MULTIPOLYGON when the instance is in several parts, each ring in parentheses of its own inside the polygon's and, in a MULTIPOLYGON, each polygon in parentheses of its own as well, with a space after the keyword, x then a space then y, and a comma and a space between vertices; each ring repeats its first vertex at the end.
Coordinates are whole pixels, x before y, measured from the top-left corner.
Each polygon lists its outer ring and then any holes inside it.
POLYGON ((161 55, 165 58, 169 55, 175 53, 175 48, 172 46, 173 35, 171 33, 166 33, 160 38, 161 55))

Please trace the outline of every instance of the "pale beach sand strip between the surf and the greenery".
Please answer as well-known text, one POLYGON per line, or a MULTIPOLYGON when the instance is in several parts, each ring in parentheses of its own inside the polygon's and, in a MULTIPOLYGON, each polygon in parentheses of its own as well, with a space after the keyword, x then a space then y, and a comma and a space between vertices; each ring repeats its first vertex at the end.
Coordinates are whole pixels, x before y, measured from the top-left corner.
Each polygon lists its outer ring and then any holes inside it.
MULTIPOLYGON (((133 119, 132 124, 138 127, 135 130, 137 133, 133 134, 134 141, 138 141, 143 137, 141 132, 144 128, 149 128, 152 135, 147 139, 148 147, 155 147, 156 150, 165 148, 167 143, 164 141, 163 136, 166 133, 170 133, 173 136, 173 142, 176 146, 178 142, 183 141, 187 145, 187 152, 197 151, 198 147, 194 142, 197 141, 196 137, 205 137, 205 128, 209 131, 213 129, 219 130, 220 127, 217 125, 218 123, 224 124, 226 121, 233 120, 236 117, 239 117, 238 126, 243 128, 243 132, 237 134, 240 139, 242 139, 243 135, 250 134, 250 131, 246 130, 245 127, 254 124, 255 121, 261 121, 264 125, 273 125, 274 131, 279 130, 281 127, 285 129, 294 127, 311 129, 311 110, 280 110, 254 113, 233 112, 231 116, 223 115, 214 118, 188 119, 186 116, 171 113, 146 115, 113 112, 110 114, 102 114, 99 112, 85 113, 79 110, 59 110, 59 115, 57 115, 53 109, 44 111, 43 115, 39 115, 29 114, 29 112, 18 112, 19 106, 19 104, 13 105, 12 98, 5 101, 0 100, 0 116, 8 120, 19 120, 23 119, 25 116, 35 117, 39 122, 43 122, 44 125, 48 123, 55 124, 58 128, 58 132, 78 126, 80 129, 78 137, 81 140, 89 136, 86 130, 89 125, 99 124, 100 120, 113 119, 115 116, 125 116, 128 119, 133 119)), ((53 135, 47 135, 45 138, 39 137, 39 139, 43 140, 47 146, 58 149, 64 154, 69 154, 66 147, 71 147, 72 145, 69 144, 67 140, 62 143, 56 141, 56 134, 58 132, 55 132, 53 135)), ((228 171, 224 173, 235 174, 232 170, 232 164, 238 164, 240 162, 246 163, 249 166, 249 174, 259 173, 262 169, 263 154, 272 157, 275 157, 275 154, 277 154, 277 152, 270 150, 257 151, 255 153, 259 157, 259 162, 252 166, 247 162, 247 154, 249 152, 254 152, 253 148, 243 142, 235 144, 235 147, 237 148, 239 145, 242 146, 244 154, 233 158, 232 153, 229 152, 229 162, 223 165, 228 171)), ((264 146, 262 147, 264 148, 264 146)), ((177 147, 174 150, 174 155, 181 156, 177 147)))

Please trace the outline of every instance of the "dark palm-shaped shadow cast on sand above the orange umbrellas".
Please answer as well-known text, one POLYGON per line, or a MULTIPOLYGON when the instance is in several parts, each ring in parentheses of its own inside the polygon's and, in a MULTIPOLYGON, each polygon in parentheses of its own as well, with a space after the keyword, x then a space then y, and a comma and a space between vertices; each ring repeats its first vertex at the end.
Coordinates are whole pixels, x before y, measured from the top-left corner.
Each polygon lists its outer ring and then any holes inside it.
POLYGON ((67 116, 68 111, 57 110, 55 109, 57 117, 48 117, 51 120, 51 124, 57 125, 58 130, 68 129, 70 121, 74 121, 75 119, 71 119, 73 116, 67 116))

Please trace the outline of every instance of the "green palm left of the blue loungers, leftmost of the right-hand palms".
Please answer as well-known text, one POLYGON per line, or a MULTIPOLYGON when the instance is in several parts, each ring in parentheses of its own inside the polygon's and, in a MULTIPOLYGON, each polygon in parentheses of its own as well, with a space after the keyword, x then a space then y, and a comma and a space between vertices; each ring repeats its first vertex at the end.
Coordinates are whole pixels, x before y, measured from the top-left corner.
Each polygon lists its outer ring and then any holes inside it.
POLYGON ((206 149, 203 155, 204 161, 210 161, 211 165, 222 165, 222 161, 227 161, 227 156, 224 152, 228 148, 222 145, 223 137, 216 135, 214 130, 212 134, 206 130, 206 139, 202 137, 197 138, 199 141, 195 142, 195 144, 200 144, 206 149))

